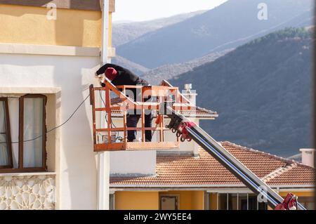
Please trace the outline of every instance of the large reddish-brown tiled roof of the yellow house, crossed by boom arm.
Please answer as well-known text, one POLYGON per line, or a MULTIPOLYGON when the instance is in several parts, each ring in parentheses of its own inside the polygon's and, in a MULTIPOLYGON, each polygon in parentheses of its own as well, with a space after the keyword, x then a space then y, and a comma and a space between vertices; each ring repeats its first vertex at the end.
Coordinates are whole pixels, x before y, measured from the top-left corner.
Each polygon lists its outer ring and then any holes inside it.
MULTIPOLYGON (((315 183, 315 169, 309 166, 233 143, 221 144, 269 185, 303 186, 315 183)), ((232 173, 202 149, 199 150, 199 157, 189 154, 157 154, 156 176, 113 176, 110 184, 111 187, 243 186, 232 173)))

